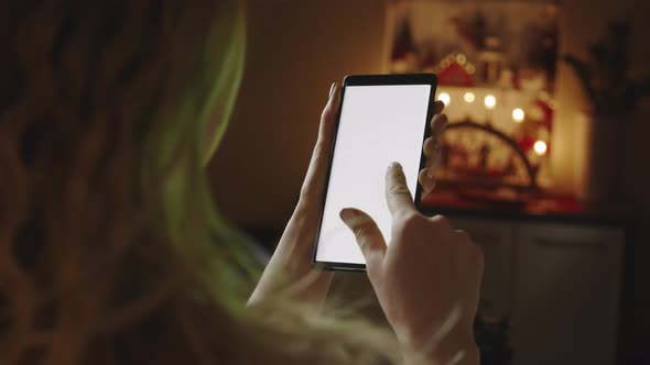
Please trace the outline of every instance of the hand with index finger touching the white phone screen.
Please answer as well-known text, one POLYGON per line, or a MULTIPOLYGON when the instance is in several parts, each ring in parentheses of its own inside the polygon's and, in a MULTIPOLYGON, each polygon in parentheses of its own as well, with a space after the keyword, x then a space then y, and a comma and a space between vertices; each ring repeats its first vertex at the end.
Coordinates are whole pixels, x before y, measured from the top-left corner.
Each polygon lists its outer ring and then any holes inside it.
POLYGON ((392 236, 371 217, 346 208, 340 218, 354 232, 368 277, 407 354, 436 364, 478 364, 473 323, 483 276, 483 253, 463 231, 436 215, 420 214, 397 163, 386 176, 392 236))

